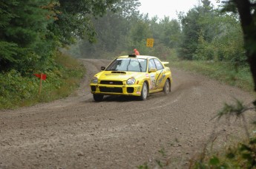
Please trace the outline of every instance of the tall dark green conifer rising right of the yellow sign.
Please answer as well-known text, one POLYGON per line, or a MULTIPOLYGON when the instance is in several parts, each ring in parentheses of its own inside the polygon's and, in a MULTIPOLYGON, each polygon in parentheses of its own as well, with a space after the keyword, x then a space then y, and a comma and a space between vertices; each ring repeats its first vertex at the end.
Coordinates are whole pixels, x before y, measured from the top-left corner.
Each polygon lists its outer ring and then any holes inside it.
POLYGON ((203 36, 204 41, 211 42, 216 35, 214 33, 216 25, 211 22, 216 15, 215 11, 209 0, 203 0, 202 4, 189 10, 186 15, 183 13, 179 15, 183 34, 179 49, 180 58, 192 60, 200 36, 203 36))

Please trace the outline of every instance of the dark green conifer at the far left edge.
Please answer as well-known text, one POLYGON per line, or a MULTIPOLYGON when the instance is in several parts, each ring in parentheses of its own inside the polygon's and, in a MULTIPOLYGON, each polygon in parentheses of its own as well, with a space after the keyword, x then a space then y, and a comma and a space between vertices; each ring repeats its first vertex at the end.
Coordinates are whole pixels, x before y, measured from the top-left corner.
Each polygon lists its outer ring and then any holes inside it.
POLYGON ((50 55, 51 42, 46 38, 52 13, 44 7, 50 1, 1 1, 1 70, 20 72, 34 69, 40 59, 50 55), (48 17, 47 17, 48 16, 48 17))

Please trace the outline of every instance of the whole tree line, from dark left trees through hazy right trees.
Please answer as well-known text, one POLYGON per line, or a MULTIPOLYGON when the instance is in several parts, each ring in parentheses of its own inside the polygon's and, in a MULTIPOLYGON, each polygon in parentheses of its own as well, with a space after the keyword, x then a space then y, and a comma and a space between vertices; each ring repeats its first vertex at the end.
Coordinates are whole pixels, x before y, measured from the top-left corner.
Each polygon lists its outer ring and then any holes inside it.
POLYGON ((246 62, 236 14, 220 13, 209 0, 178 18, 148 18, 140 1, 1 1, 0 70, 22 75, 44 71, 59 46, 77 58, 142 55, 199 61, 246 62), (25 10, 24 10, 25 9, 25 10), (154 38, 154 47, 146 39, 154 38))

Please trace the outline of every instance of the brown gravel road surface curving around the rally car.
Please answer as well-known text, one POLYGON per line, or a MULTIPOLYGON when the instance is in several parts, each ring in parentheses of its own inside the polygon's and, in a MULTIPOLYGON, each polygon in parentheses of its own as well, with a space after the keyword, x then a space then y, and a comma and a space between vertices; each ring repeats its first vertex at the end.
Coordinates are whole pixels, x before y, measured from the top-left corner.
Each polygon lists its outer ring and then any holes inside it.
POLYGON ((0 111, 0 169, 189 168, 206 143, 206 151, 213 151, 245 136, 240 120, 211 119, 224 102, 236 97, 250 103, 253 97, 178 69, 171 68, 167 96, 94 102, 88 83, 109 62, 81 60, 87 75, 68 98, 0 111))

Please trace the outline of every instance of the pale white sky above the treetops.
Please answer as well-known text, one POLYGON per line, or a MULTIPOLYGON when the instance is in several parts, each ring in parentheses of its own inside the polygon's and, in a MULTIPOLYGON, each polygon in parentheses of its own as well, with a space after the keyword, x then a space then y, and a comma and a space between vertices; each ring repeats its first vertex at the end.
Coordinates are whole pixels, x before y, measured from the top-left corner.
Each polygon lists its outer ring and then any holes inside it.
MULTIPOLYGON (((169 16, 171 19, 177 19, 177 13, 187 13, 189 9, 198 6, 200 0, 139 0, 141 6, 139 7, 140 13, 148 13, 149 18, 157 15, 158 18, 169 16)), ((210 0, 214 7, 217 7, 216 0, 210 0)))

